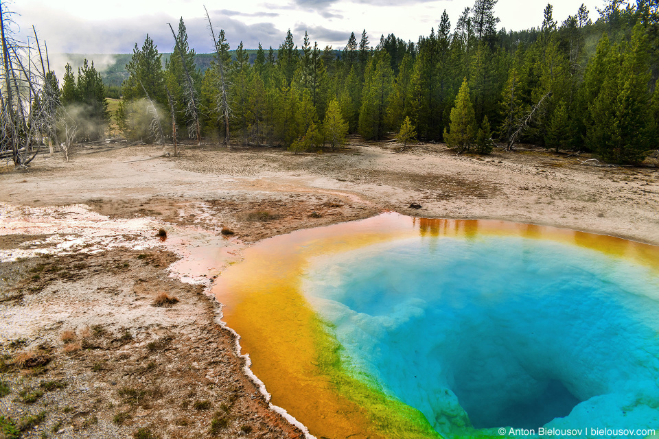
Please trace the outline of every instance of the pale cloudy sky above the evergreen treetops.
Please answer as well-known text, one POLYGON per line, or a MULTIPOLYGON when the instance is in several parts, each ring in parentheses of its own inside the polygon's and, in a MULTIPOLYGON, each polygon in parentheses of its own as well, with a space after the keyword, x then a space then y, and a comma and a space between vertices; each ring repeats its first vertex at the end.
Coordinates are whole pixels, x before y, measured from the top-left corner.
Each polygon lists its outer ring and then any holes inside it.
MULTIPOLYGON (((542 11, 547 0, 498 0, 495 8, 500 27, 527 29, 542 24, 542 11)), ((575 14, 585 3, 594 20, 604 0, 553 0, 554 19, 561 23, 575 14)), ((291 29, 300 45, 304 31, 319 46, 335 49, 345 46, 350 32, 358 36, 367 30, 375 45, 381 34, 393 32, 404 40, 417 40, 437 29, 441 13, 446 9, 451 24, 472 1, 459 0, 9 0, 8 7, 21 34, 32 32, 47 41, 51 53, 113 54, 130 53, 135 43, 141 46, 146 34, 159 51, 172 51, 173 41, 167 23, 176 28, 183 17, 189 42, 198 53, 213 49, 204 5, 213 27, 224 29, 234 49, 243 41, 248 49, 260 42, 275 49, 291 29)))

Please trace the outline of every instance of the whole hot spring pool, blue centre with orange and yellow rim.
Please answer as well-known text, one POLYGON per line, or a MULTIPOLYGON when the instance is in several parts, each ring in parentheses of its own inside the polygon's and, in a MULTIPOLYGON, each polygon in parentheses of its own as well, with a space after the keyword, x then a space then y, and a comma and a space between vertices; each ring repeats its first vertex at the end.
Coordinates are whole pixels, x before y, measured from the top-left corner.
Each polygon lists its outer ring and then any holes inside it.
POLYGON ((655 246, 384 214, 267 239, 214 291, 317 437, 659 429, 655 246))

